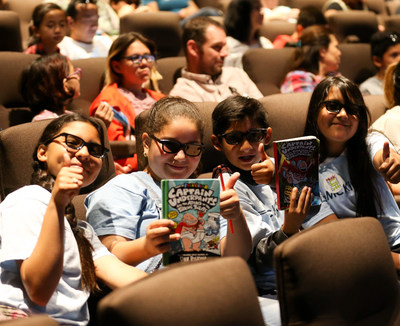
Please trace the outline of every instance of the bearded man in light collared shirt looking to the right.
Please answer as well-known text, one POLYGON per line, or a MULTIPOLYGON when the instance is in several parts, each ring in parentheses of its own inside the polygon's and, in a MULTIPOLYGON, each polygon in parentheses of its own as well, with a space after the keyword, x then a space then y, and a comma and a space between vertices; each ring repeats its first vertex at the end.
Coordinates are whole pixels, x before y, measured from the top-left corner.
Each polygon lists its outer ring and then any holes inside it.
POLYGON ((231 95, 261 98, 243 69, 223 67, 228 55, 224 27, 209 17, 189 21, 183 30, 186 68, 170 95, 192 102, 220 102, 231 95))

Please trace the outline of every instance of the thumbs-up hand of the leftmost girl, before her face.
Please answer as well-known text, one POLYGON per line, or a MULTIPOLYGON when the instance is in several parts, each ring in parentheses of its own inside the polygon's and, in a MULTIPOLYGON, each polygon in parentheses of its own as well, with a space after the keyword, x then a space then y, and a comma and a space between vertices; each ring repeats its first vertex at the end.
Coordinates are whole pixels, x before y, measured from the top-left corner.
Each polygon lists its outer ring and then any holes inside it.
POLYGON ((60 169, 54 182, 52 197, 56 205, 66 207, 71 199, 79 194, 83 183, 83 168, 71 166, 71 157, 64 153, 64 166, 60 169))

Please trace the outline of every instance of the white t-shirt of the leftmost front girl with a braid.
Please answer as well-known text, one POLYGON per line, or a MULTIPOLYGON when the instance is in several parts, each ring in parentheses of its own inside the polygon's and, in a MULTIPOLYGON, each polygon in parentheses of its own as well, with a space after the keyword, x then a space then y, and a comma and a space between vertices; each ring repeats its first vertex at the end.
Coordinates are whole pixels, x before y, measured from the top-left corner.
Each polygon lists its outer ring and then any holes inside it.
MULTIPOLYGON (((61 324, 86 325, 89 321, 89 293, 80 287, 79 249, 66 219, 63 273, 46 306, 38 306, 28 299, 17 267, 17 260, 24 260, 32 254, 50 197, 51 193, 46 189, 31 185, 9 194, 0 204, 0 304, 16 307, 28 314, 44 313, 61 324)), ((78 223, 94 247, 94 260, 111 255, 87 222, 78 223)))

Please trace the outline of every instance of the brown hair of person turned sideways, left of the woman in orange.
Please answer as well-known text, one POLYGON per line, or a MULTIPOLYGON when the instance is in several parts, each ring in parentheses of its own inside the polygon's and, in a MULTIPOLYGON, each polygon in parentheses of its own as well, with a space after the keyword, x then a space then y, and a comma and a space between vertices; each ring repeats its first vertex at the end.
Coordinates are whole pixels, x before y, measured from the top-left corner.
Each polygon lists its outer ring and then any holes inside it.
POLYGON ((42 110, 64 113, 65 106, 75 95, 73 88, 64 88, 69 70, 68 59, 61 54, 41 56, 24 69, 20 91, 33 114, 42 110))

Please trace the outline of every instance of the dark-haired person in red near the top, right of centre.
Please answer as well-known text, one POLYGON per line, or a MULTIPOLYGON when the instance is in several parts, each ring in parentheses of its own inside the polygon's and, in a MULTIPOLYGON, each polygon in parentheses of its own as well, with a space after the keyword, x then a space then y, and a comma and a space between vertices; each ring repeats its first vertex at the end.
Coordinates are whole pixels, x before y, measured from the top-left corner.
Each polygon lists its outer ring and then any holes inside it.
POLYGON ((326 24, 326 19, 321 10, 314 6, 304 7, 300 10, 294 33, 292 35, 278 35, 273 42, 273 46, 275 49, 281 49, 285 46, 299 46, 299 38, 305 28, 313 25, 326 24))

